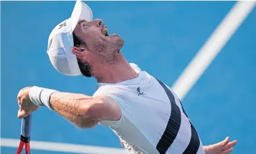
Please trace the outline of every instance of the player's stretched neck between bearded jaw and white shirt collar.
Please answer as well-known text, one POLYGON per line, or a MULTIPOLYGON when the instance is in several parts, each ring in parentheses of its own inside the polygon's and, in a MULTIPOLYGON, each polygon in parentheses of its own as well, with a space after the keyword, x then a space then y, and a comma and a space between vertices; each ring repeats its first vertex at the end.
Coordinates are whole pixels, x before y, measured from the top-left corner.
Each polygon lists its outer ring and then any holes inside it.
POLYGON ((124 57, 113 64, 94 65, 93 75, 98 83, 118 83, 138 77, 124 57))

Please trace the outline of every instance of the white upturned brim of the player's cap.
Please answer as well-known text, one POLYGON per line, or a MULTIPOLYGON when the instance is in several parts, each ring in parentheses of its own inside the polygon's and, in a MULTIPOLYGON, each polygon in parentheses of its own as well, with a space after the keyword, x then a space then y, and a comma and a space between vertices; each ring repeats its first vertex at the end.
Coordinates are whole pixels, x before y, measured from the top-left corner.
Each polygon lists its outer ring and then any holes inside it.
POLYGON ((92 21, 92 18, 92 10, 90 7, 82 1, 76 1, 70 17, 72 31, 74 31, 74 28, 76 28, 76 25, 80 19, 92 21))

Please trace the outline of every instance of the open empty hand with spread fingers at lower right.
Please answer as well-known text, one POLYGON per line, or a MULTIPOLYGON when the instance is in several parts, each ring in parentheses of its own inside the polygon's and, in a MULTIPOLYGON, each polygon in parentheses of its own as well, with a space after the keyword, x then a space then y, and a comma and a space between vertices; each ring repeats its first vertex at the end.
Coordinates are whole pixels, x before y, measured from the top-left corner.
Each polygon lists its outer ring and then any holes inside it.
POLYGON ((230 137, 226 137, 225 140, 218 142, 217 144, 212 144, 208 146, 204 146, 204 152, 206 154, 228 154, 233 150, 234 145, 236 145, 237 141, 230 141, 230 137))

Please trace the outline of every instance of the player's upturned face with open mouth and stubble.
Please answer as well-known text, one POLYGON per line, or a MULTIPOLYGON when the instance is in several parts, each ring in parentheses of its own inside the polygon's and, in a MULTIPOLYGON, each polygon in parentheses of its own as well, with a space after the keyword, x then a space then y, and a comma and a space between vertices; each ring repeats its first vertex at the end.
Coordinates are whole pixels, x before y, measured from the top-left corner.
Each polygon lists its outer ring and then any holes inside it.
MULTIPOLYGON (((78 58, 86 63, 87 67, 90 67, 90 69, 86 70, 93 71, 92 63, 100 62, 104 64, 118 61, 124 40, 117 34, 109 35, 107 26, 103 25, 102 20, 79 20, 74 29, 74 34, 82 42, 79 48, 84 52, 84 56, 78 58)), ((84 75, 92 74, 92 72, 88 71, 82 73, 84 75)))

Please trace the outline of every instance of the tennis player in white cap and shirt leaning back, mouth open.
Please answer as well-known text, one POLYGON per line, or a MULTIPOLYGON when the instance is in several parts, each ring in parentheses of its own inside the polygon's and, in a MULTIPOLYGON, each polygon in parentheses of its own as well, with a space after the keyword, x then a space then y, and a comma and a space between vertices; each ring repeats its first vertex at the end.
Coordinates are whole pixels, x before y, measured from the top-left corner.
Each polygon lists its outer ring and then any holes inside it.
POLYGON ((129 153, 226 154, 236 141, 203 146, 196 129, 170 87, 121 53, 124 40, 108 34, 90 7, 77 1, 70 18, 49 36, 47 54, 58 72, 97 79, 93 96, 26 87, 18 93, 18 118, 41 106, 79 128, 110 127, 129 153))

